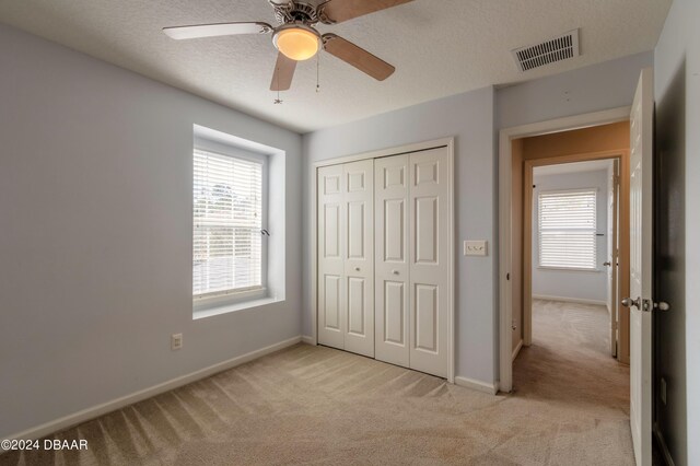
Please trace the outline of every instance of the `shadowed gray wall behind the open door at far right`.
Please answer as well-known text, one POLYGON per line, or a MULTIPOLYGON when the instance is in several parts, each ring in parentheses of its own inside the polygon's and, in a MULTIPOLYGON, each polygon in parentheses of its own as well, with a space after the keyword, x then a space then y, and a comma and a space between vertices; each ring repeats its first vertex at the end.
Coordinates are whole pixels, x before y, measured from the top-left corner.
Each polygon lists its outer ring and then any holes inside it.
POLYGON ((655 316, 655 422, 676 465, 700 463, 700 2, 675 0, 655 50, 656 300, 672 310, 655 316), (692 440, 696 441, 692 441, 692 440), (690 441, 689 441, 690 440, 690 441))

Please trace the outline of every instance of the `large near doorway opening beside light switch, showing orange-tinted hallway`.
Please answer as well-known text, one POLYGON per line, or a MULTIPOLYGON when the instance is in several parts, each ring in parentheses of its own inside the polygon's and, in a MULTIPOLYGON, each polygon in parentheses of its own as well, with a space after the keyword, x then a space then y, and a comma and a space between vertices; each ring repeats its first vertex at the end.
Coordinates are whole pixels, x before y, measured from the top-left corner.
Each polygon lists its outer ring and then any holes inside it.
POLYGON ((620 121, 512 142, 518 396, 610 415, 629 406, 629 366, 618 360, 629 331, 617 305, 629 276, 629 241, 618 235, 629 224, 629 140, 620 121))

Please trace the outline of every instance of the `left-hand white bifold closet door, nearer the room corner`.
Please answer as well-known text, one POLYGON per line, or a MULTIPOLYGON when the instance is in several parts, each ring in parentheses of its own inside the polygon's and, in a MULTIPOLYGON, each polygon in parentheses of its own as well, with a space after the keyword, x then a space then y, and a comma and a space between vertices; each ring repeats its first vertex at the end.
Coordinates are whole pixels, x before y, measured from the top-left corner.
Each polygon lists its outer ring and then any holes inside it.
POLYGON ((374 161, 318 170, 318 342, 374 357, 374 161))

